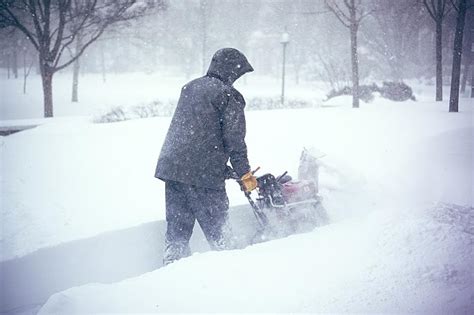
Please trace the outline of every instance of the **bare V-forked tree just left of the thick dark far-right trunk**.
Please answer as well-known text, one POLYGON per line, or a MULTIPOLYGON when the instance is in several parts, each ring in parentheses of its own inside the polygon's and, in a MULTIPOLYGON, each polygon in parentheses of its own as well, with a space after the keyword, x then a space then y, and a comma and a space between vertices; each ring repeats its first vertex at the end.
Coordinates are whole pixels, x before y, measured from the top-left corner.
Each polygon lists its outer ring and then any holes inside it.
POLYGON ((449 13, 448 0, 423 0, 436 26, 436 101, 443 100, 443 21, 449 13))

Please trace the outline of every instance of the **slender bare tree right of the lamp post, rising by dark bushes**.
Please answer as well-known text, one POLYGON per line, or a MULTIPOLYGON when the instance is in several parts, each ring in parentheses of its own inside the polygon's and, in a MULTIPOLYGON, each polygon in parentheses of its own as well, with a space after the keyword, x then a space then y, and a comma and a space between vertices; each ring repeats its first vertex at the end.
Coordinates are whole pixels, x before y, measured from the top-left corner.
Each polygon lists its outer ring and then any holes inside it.
POLYGON ((357 53, 357 32, 362 20, 370 12, 364 9, 361 0, 325 0, 328 9, 350 31, 352 63, 352 107, 359 107, 359 56, 357 53))

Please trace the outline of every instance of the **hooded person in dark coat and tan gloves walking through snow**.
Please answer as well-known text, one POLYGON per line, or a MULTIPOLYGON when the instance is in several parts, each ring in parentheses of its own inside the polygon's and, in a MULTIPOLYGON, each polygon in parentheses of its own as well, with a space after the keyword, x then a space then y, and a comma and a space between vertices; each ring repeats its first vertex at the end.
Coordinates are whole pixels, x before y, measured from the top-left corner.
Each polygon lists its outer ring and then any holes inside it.
POLYGON ((232 86, 253 68, 237 49, 212 57, 207 74, 181 90, 155 177, 165 181, 165 265, 189 256, 195 220, 211 249, 231 248, 225 191, 227 161, 245 191, 255 189, 245 144, 245 101, 232 86))

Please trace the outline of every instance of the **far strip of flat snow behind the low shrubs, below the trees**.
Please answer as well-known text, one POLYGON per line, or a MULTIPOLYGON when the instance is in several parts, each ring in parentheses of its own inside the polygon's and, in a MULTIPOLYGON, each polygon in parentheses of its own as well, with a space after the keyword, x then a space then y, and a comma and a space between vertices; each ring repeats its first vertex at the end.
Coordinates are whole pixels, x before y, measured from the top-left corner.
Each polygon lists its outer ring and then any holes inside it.
MULTIPOLYGON (((2 73, 0 72, 0 75, 2 73)), ((196 77, 199 74, 196 75, 196 77)), ((54 115, 98 116, 113 107, 130 107, 148 104, 155 100, 176 102, 181 87, 192 78, 176 75, 125 73, 107 76, 86 74, 79 77, 79 103, 71 102, 72 75, 59 72, 54 76, 54 115)), ((321 84, 288 82, 287 97, 304 100, 321 100, 321 84)), ((242 78, 236 83, 247 99, 280 95, 281 82, 277 78, 242 78)), ((28 78, 27 93, 23 94, 23 80, 0 79, 1 120, 36 119, 43 117, 41 77, 28 78)), ((36 121, 37 122, 37 121, 36 121)))

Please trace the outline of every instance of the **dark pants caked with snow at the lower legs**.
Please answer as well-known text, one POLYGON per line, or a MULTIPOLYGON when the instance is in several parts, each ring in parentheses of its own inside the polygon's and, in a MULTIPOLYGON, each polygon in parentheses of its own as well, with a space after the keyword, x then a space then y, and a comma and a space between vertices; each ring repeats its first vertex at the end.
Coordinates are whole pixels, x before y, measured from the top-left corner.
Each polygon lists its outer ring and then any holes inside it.
POLYGON ((213 250, 230 249, 229 200, 225 189, 209 189, 166 181, 165 252, 163 264, 189 256, 195 220, 213 250))

